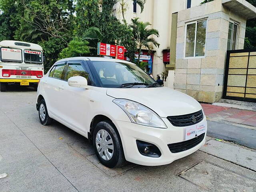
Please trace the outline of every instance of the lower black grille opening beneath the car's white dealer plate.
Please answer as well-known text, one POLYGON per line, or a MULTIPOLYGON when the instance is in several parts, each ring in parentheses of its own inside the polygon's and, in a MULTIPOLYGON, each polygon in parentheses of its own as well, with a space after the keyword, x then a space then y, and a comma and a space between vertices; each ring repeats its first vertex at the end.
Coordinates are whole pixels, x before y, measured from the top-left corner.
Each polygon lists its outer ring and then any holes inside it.
POLYGON ((179 143, 168 144, 167 146, 172 153, 178 153, 197 146, 203 139, 204 133, 201 134, 200 136, 195 137, 194 139, 182 141, 179 143))

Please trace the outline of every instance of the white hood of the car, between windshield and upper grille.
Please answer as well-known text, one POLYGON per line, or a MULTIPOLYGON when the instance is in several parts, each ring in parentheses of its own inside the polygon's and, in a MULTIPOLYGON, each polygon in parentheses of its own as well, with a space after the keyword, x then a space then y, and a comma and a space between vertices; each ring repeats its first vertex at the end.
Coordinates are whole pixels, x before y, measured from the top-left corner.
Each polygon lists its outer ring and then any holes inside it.
POLYGON ((143 104, 160 117, 190 114, 202 109, 192 97, 167 88, 109 88, 107 95, 143 104))

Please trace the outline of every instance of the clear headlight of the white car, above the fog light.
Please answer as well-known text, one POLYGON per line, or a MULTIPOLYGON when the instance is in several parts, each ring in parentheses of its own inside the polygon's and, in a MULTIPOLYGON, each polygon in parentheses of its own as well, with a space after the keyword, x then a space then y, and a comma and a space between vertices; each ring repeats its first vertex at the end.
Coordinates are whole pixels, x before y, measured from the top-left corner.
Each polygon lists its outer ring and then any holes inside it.
POLYGON ((115 99, 113 102, 120 106, 129 116, 130 120, 136 124, 167 128, 158 114, 142 104, 127 99, 115 99))

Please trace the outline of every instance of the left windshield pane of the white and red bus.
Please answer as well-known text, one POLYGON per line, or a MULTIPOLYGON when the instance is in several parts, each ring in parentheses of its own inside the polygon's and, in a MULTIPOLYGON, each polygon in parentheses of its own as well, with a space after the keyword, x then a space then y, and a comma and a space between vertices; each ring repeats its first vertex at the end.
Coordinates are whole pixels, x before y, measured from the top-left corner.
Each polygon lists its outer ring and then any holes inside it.
POLYGON ((1 48, 2 61, 22 62, 22 52, 20 49, 1 48))

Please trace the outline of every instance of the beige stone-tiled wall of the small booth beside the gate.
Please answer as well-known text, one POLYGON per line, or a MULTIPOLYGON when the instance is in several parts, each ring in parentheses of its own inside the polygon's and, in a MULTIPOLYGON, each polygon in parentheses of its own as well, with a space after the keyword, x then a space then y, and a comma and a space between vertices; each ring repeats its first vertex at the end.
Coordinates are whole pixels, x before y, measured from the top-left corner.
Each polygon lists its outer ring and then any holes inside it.
POLYGON ((178 12, 174 88, 201 102, 222 97, 229 21, 239 23, 237 49, 244 48, 246 18, 214 0, 178 12), (187 22, 207 18, 206 50, 201 58, 184 58, 187 22))

